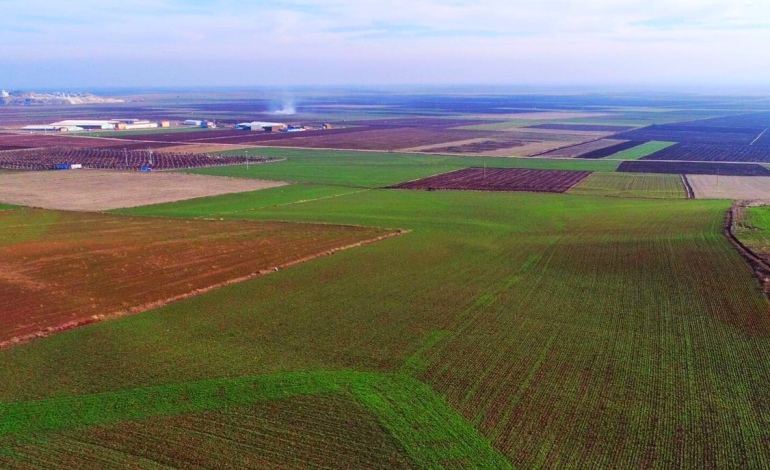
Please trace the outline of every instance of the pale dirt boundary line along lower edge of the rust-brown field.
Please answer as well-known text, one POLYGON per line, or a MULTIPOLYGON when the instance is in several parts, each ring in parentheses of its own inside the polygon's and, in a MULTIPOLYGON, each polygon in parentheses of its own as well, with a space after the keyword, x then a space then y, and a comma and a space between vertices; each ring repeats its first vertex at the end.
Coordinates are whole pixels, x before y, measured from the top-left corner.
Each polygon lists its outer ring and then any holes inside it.
MULTIPOLYGON (((323 225, 323 224, 320 224, 320 225, 323 225)), ((340 224, 326 224, 326 225, 343 226, 343 225, 340 225, 340 224)), ((349 226, 353 227, 352 225, 349 225, 349 226)), ((396 237, 396 236, 399 236, 399 235, 403 235, 405 233, 409 233, 409 230, 404 230, 404 229, 400 229, 400 228, 399 229, 386 229, 386 230, 389 230, 389 232, 384 234, 384 235, 380 235, 378 237, 375 237, 375 238, 370 238, 370 239, 367 239, 367 240, 361 240, 359 242, 352 243, 352 244, 349 244, 349 245, 344 245, 344 246, 340 246, 340 247, 324 250, 324 251, 321 251, 319 253, 315 253, 315 254, 312 254, 312 255, 309 255, 309 256, 304 256, 302 258, 298 258, 298 259, 295 259, 295 260, 292 260, 292 261, 288 261, 286 263, 282 263, 282 264, 279 264, 279 265, 276 265, 276 266, 271 266, 271 267, 268 267, 268 268, 263 268, 263 269, 260 269, 259 271, 253 272, 251 274, 247 274, 246 276, 239 276, 237 278, 230 279, 230 280, 227 280, 227 281, 224 281, 224 282, 219 282, 219 283, 207 286, 207 287, 202 287, 202 288, 199 288, 199 289, 195 289, 193 291, 190 291, 190 292, 187 292, 187 293, 184 293, 184 294, 176 295, 176 296, 169 297, 169 298, 166 298, 166 299, 157 300, 157 301, 154 301, 154 302, 148 302, 148 303, 136 306, 136 307, 131 307, 131 308, 128 308, 128 309, 119 310, 119 311, 116 311, 116 312, 91 315, 88 318, 83 318, 83 319, 80 319, 80 320, 73 320, 73 321, 70 321, 70 322, 67 322, 67 323, 63 323, 63 324, 57 325, 57 326, 49 326, 49 327, 47 327, 47 328, 45 328, 43 330, 39 330, 39 331, 34 332, 34 333, 29 333, 29 334, 22 335, 22 336, 16 336, 16 337, 8 339, 8 340, 0 341, 0 350, 6 349, 6 348, 10 348, 10 347, 13 347, 13 346, 17 346, 17 345, 20 345, 20 344, 25 344, 25 343, 28 343, 28 342, 33 341, 35 339, 38 339, 38 338, 45 338, 47 336, 51 336, 51 335, 56 334, 56 333, 61 333, 61 332, 66 331, 66 330, 71 330, 73 328, 78 328, 78 327, 81 327, 81 326, 90 325, 92 323, 98 323, 98 322, 101 322, 101 321, 104 321, 104 320, 114 320, 114 319, 117 319, 117 318, 122 318, 122 317, 125 317, 125 316, 129 316, 129 315, 136 315, 136 314, 139 314, 139 313, 147 312, 149 310, 160 308, 160 307, 163 307, 165 305, 168 305, 168 304, 171 304, 171 303, 174 303, 174 302, 179 302, 181 300, 185 300, 185 299, 189 299, 191 297, 195 297, 195 296, 198 296, 198 295, 201 295, 201 294, 205 294, 206 292, 210 292, 210 291, 212 291, 214 289, 218 289, 220 287, 225 287, 225 286, 229 286, 231 284, 237 284, 239 282, 248 281, 250 279, 254 279, 254 278, 257 278, 257 277, 266 276, 268 274, 272 274, 274 272, 278 272, 281 269, 286 269, 286 268, 289 268, 289 267, 297 265, 297 264, 301 264, 301 263, 305 263, 305 262, 308 262, 308 261, 312 261, 314 259, 318 259, 318 258, 322 258, 322 257, 325 257, 325 256, 333 255, 333 254, 338 253, 340 251, 349 250, 351 248, 357 248, 357 247, 364 246, 364 245, 369 245, 369 244, 376 243, 376 242, 379 242, 379 241, 382 241, 382 240, 386 240, 388 238, 393 238, 393 237, 396 237)))

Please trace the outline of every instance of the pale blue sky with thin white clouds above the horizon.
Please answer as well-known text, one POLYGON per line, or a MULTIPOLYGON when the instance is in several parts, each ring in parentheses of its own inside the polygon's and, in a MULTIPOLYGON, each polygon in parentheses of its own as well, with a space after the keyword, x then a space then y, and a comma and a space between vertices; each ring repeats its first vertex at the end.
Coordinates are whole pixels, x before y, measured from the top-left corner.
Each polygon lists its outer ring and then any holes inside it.
POLYGON ((0 0, 0 88, 770 87, 767 0, 0 0))

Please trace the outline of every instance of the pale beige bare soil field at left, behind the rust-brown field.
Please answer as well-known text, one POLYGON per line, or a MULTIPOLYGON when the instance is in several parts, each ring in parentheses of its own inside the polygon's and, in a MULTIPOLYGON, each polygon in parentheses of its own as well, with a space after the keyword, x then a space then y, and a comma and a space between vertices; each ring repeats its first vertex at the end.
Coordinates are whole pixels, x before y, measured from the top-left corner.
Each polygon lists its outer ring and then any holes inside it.
POLYGON ((166 172, 67 170, 0 174, 0 201, 103 211, 282 186, 280 181, 166 172))

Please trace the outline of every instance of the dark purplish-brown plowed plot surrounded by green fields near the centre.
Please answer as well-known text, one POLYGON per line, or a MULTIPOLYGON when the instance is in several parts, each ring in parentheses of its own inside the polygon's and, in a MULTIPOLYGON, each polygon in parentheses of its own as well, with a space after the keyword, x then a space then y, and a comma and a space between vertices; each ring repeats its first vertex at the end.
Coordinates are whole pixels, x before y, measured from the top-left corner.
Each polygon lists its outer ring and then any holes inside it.
POLYGON ((527 168, 464 168, 390 186, 395 189, 460 189, 563 193, 590 171, 527 168))

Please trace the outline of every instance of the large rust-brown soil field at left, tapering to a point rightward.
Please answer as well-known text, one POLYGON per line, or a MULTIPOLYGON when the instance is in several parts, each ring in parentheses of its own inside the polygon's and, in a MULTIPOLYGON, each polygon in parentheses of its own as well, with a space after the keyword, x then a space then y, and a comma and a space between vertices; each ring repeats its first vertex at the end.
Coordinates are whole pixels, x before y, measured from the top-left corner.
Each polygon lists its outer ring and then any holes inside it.
POLYGON ((0 228, 0 347, 396 233, 34 209, 0 212, 0 228))

